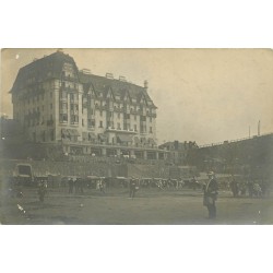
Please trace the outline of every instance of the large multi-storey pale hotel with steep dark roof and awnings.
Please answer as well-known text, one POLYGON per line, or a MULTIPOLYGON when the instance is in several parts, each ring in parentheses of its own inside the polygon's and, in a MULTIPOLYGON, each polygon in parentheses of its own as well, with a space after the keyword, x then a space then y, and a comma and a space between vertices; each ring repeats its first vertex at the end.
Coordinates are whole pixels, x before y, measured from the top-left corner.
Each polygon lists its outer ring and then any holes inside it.
POLYGON ((139 86, 79 70, 57 51, 20 69, 11 90, 13 118, 28 141, 58 143, 64 154, 164 159, 156 143, 156 106, 139 86))

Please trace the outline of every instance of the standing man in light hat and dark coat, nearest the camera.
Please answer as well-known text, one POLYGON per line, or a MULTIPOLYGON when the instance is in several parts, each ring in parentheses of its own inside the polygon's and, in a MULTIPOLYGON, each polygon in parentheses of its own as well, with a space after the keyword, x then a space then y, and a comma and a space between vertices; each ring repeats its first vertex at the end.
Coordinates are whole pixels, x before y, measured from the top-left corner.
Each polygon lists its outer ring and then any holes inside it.
POLYGON ((210 171, 207 174, 209 176, 209 181, 204 186, 204 199, 203 199, 203 204, 204 206, 207 207, 209 211, 209 218, 215 218, 216 217, 216 205, 215 201, 217 199, 217 190, 218 190, 218 185, 215 179, 215 175, 213 171, 210 171))

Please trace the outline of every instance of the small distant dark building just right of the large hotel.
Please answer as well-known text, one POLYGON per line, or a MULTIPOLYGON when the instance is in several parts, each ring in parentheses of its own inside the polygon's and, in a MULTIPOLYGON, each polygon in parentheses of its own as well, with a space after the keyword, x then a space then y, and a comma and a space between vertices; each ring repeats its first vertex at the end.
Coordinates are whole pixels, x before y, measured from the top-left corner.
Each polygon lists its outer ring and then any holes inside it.
POLYGON ((188 165, 189 151, 198 149, 198 145, 194 141, 169 141, 159 145, 159 149, 168 151, 168 159, 175 163, 176 165, 188 165))

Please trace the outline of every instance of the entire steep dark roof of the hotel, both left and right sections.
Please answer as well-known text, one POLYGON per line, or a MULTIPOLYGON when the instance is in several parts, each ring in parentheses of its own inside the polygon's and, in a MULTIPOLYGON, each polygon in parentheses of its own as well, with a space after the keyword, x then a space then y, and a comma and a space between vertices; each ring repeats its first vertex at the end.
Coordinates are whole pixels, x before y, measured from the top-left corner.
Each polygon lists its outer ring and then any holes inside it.
POLYGON ((102 93, 103 97, 106 97, 108 92, 111 91, 114 96, 119 96, 121 100, 126 94, 129 94, 130 98, 135 99, 138 103, 144 96, 146 102, 150 102, 151 106, 155 107, 146 92, 146 88, 116 79, 79 72, 74 59, 61 51, 57 51, 52 55, 35 60, 21 68, 12 86, 11 93, 16 93, 21 88, 29 85, 29 83, 27 83, 29 78, 35 79, 32 84, 44 82, 49 79, 61 79, 64 62, 73 66, 74 71, 76 71, 76 81, 83 84, 85 93, 90 90, 94 90, 96 94, 102 93))

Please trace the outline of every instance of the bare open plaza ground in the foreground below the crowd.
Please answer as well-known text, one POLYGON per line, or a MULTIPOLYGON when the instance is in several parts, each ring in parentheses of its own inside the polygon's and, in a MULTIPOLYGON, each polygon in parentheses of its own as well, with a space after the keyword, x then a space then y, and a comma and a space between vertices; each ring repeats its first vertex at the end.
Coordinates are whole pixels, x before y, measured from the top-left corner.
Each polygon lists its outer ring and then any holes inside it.
POLYGON ((144 189, 134 199, 126 188, 103 193, 85 189, 69 194, 66 188, 49 188, 44 202, 37 189, 22 188, 23 198, 1 192, 1 224, 21 225, 254 225, 273 224, 273 198, 234 198, 219 191, 216 219, 207 218, 202 190, 144 189))

